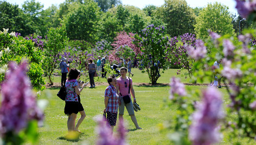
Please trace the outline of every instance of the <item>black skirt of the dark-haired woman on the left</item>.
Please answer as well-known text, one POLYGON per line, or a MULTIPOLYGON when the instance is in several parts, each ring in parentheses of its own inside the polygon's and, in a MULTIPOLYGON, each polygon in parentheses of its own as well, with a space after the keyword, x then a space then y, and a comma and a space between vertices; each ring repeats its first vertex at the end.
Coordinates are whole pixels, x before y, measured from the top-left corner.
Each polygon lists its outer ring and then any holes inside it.
POLYGON ((82 107, 82 104, 80 102, 75 101, 65 101, 65 109, 64 113, 66 115, 71 115, 72 113, 78 114, 79 111, 84 110, 84 107, 82 107))

